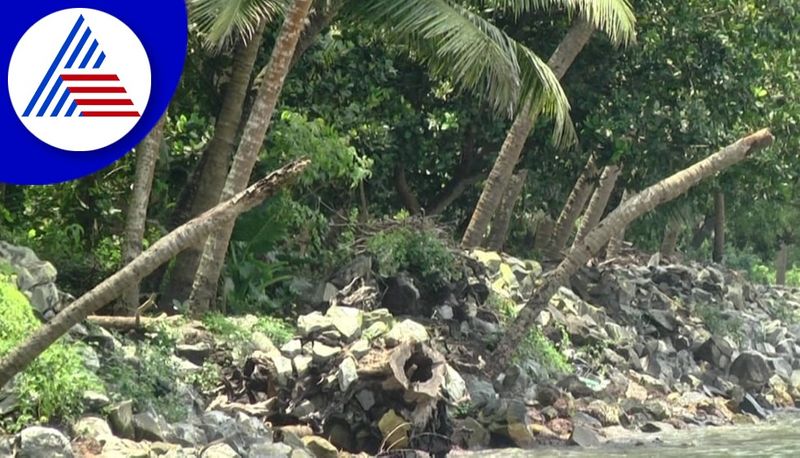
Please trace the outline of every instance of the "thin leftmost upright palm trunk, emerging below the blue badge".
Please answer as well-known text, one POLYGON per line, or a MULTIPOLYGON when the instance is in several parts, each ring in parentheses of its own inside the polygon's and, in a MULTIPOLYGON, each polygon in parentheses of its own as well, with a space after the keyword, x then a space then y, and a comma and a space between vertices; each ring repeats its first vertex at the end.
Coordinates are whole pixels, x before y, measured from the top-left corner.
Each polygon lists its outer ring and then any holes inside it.
MULTIPOLYGON (((166 114, 136 148, 136 174, 133 193, 128 202, 128 213, 125 221, 125 234, 122 243, 122 263, 128 264, 142 254, 145 223, 147 221, 147 205, 153 189, 153 175, 156 161, 161 152, 161 141, 164 138, 166 114)), ((136 283, 122 293, 121 310, 117 314, 129 315, 139 307, 139 284, 136 283)))

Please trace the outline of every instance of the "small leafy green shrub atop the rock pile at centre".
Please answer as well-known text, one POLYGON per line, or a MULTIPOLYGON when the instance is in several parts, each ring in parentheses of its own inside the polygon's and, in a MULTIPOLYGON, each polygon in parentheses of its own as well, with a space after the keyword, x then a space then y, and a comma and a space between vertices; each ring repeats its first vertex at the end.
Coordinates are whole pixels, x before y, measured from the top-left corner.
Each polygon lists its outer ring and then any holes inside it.
POLYGON ((460 274, 453 252, 430 230, 397 227, 379 232, 367 241, 367 249, 378 258, 383 276, 407 271, 425 286, 437 288, 460 274))

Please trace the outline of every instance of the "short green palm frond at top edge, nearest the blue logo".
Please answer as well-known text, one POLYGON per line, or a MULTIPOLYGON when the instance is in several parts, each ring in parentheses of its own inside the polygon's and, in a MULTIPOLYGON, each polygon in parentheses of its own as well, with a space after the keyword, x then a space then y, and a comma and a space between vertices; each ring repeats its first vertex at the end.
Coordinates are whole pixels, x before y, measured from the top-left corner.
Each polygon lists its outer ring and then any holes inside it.
POLYGON ((210 48, 249 40, 261 21, 278 17, 286 0, 187 0, 190 21, 210 48))

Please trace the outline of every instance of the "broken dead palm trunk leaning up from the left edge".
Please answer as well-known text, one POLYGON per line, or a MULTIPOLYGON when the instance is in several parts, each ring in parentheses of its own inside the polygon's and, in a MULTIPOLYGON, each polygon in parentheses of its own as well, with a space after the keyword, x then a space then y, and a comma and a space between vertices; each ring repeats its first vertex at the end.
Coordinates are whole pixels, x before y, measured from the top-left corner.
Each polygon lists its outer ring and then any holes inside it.
POLYGON ((42 325, 27 339, 0 359, 0 388, 59 337, 80 323, 94 311, 108 304, 124 291, 141 281, 161 264, 169 261, 181 250, 203 240, 221 224, 235 219, 239 214, 261 204, 283 185, 302 172, 309 162, 297 161, 259 180, 233 198, 217 205, 197 218, 183 224, 131 261, 128 265, 105 279, 91 291, 76 299, 47 324, 42 325))

